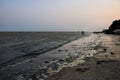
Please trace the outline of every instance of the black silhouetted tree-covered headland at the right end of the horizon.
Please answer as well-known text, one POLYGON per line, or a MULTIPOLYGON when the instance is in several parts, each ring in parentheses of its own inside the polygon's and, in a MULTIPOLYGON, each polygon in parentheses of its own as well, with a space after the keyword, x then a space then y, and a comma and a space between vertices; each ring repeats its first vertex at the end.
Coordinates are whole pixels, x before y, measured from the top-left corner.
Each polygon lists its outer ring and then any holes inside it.
POLYGON ((115 20, 108 30, 104 30, 107 34, 120 34, 120 20, 115 20))

